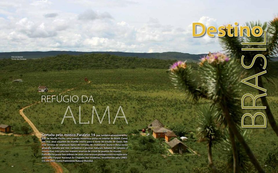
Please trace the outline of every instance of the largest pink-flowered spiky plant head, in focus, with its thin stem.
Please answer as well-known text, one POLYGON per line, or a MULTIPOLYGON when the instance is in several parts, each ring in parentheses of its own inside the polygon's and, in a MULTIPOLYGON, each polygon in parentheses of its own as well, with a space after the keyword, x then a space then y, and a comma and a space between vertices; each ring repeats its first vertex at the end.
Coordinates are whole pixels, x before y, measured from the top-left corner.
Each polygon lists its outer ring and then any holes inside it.
MULTIPOLYGON (((242 112, 240 99, 237 97, 240 91, 239 70, 236 60, 231 60, 228 56, 221 53, 209 53, 201 59, 200 69, 203 71, 201 76, 203 85, 207 88, 207 96, 213 100, 214 106, 218 110, 218 121, 224 127, 227 125, 225 116, 231 117, 231 123, 235 125, 241 122, 242 112), (226 115, 228 114, 228 115, 226 115)), ((229 136, 232 144, 234 157, 234 172, 239 172, 237 147, 235 135, 229 127, 229 136)))

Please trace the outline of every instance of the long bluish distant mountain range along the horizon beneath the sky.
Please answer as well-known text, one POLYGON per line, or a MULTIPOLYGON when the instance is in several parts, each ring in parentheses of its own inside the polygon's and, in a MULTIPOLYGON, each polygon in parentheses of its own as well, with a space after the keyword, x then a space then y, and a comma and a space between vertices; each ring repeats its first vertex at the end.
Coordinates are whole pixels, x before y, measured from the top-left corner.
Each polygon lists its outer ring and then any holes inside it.
POLYGON ((0 52, 0 59, 3 58, 12 58, 12 56, 23 56, 26 59, 36 59, 36 58, 44 58, 51 57, 56 55, 68 54, 68 55, 82 55, 82 54, 110 54, 116 56, 124 56, 124 57, 138 57, 138 58, 155 58, 162 60, 182 60, 189 62, 196 62, 202 56, 206 54, 188 54, 181 52, 163 52, 163 53, 131 53, 131 52, 78 52, 78 51, 24 51, 24 52, 0 52))

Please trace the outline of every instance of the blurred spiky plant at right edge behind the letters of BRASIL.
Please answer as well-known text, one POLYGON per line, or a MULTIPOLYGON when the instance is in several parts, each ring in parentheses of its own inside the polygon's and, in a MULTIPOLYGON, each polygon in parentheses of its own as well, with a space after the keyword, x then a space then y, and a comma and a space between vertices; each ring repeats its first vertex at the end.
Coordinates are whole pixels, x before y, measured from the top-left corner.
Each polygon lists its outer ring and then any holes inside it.
MULTIPOLYGON (((245 65, 250 65, 253 60, 253 57, 255 57, 257 54, 261 54, 261 55, 265 56, 266 62, 264 62, 263 58, 257 58, 252 67, 254 72, 257 74, 257 73, 261 72, 262 70, 264 70, 264 69, 262 69, 262 67, 264 67, 265 63, 270 61, 271 57, 277 56, 277 52, 278 52, 278 17, 275 17, 272 21, 269 21, 268 23, 266 23, 266 22, 265 23, 250 22, 250 23, 246 23, 246 25, 249 26, 250 28, 252 28, 254 26, 261 26, 263 28, 263 30, 266 30, 266 33, 267 33, 266 45, 242 45, 242 42, 248 42, 248 43, 262 42, 263 43, 264 42, 264 34, 259 37, 255 37, 252 34, 250 34, 251 35, 250 37, 246 36, 246 34, 244 34, 244 37, 224 36, 224 37, 220 37, 220 43, 221 43, 222 47, 224 48, 224 50, 228 54, 233 56, 233 58, 242 59, 242 55, 244 55, 245 58, 243 59, 243 62, 245 65), (253 47, 253 48, 265 48, 266 47, 266 51, 242 51, 242 49, 241 49, 241 48, 250 48, 250 47, 253 47)), ((269 70, 271 71, 271 69, 269 69, 269 70)), ((266 78, 266 80, 271 82, 269 76, 264 75, 264 77, 266 78)), ((261 88, 264 88, 263 80, 262 80, 261 76, 258 76, 258 86, 261 88)), ((264 91, 261 91, 260 89, 258 89, 258 92, 259 92, 259 94, 264 94, 264 91)), ((278 136, 278 126, 277 126, 274 116, 271 112, 268 101, 265 96, 260 97, 260 99, 261 99, 263 106, 266 106, 266 115, 268 117, 268 122, 270 123, 270 126, 275 131, 276 135, 278 136)))

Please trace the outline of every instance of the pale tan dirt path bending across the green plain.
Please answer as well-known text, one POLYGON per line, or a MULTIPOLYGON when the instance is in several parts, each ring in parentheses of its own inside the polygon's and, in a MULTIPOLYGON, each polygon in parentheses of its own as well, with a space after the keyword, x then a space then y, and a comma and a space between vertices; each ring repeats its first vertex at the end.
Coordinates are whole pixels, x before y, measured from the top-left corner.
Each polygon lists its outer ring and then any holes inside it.
MULTIPOLYGON (((89 84, 89 83, 91 83, 91 81, 88 81, 86 84, 89 84)), ((84 84, 84 85, 86 85, 86 84, 84 84)), ((80 86, 78 86, 78 87, 80 87, 80 86)), ((63 92, 61 92, 61 93, 59 93, 59 94, 65 93, 65 92, 67 92, 67 91, 71 91, 71 90, 76 89, 76 88, 78 88, 78 87, 65 90, 65 91, 63 91, 63 92)), ((55 96, 55 95, 53 95, 53 96, 55 96)), ((36 137, 39 138, 39 140, 40 140, 40 142, 41 142, 42 133, 36 128, 36 126, 32 123, 32 121, 23 113, 24 109, 26 109, 26 108, 28 108, 28 107, 30 107, 30 106, 33 106, 34 104, 38 104, 38 103, 40 103, 40 101, 39 101, 39 102, 35 102, 35 103, 33 103, 33 104, 30 104, 30 105, 28 105, 28 106, 25 106, 25 107, 21 108, 21 109, 19 110, 19 114, 20 114, 20 115, 25 119, 25 121, 31 126, 31 128, 32 128, 33 131, 34 131, 34 135, 36 135, 36 137)), ((58 165, 58 163, 56 163, 56 162, 50 162, 50 165, 56 170, 56 173, 63 173, 63 169, 61 168, 60 165, 58 165)))

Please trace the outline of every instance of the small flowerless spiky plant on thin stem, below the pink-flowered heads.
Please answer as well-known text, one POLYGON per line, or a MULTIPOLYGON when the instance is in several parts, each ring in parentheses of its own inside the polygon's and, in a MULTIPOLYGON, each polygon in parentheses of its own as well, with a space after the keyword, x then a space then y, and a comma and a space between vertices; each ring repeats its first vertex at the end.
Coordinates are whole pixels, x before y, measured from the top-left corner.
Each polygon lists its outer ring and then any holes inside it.
POLYGON ((215 115, 212 107, 203 107, 199 112, 199 127, 197 128, 197 141, 207 143, 209 166, 213 173, 218 171, 213 164, 211 148, 222 140, 222 133, 217 127, 215 115))

